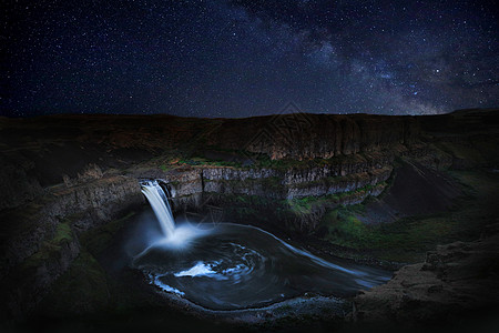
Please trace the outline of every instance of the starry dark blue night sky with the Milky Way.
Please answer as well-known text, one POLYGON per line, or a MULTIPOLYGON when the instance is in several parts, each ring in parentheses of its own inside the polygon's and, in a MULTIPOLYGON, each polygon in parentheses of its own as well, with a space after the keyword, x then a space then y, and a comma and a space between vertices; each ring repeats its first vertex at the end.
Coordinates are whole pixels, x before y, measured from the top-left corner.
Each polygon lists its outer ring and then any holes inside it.
POLYGON ((499 107, 497 1, 2 3, 3 115, 499 107))

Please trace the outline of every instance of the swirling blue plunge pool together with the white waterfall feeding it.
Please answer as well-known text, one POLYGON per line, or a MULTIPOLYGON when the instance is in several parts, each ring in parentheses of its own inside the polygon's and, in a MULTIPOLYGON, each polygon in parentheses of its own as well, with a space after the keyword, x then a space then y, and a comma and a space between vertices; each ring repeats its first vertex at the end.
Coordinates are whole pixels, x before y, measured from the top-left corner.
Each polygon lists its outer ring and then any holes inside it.
MULTIPOLYGON (((147 186, 161 190, 154 183, 147 186)), ((166 214, 151 206, 156 216, 159 212, 166 214)), ((346 297, 390 278, 381 270, 326 261, 255 226, 175 225, 173 218, 157 220, 160 224, 171 221, 172 229, 169 225, 167 234, 135 255, 132 265, 142 270, 152 284, 206 309, 258 307, 306 292, 346 297)))

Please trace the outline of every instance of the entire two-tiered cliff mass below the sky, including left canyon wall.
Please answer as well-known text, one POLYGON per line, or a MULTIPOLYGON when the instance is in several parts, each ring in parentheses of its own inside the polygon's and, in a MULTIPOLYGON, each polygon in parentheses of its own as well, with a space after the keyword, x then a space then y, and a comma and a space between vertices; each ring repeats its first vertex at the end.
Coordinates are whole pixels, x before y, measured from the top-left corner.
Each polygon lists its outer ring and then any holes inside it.
POLYGON ((329 211, 384 191, 364 218, 390 222, 421 202, 410 201, 408 178, 427 181, 421 195, 442 196, 432 213, 460 195, 440 171, 497 168, 497 124, 493 111, 1 119, 6 311, 29 312, 78 258, 81 234, 143 205, 140 178, 163 179, 179 214, 217 208, 292 235, 318 232, 329 211))

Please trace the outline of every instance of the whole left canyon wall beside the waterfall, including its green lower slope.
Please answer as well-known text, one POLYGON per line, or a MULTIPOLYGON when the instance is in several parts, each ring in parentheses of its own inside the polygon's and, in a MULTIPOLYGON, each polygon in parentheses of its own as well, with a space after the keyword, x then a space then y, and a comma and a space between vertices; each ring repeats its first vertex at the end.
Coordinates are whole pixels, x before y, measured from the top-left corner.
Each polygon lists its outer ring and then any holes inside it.
POLYGON ((28 313, 79 255, 81 232, 144 203, 136 179, 125 176, 61 184, 45 193, 22 211, 2 214, 2 223, 16 228, 2 240, 0 275, 8 287, 0 289, 6 312, 14 316, 28 313))

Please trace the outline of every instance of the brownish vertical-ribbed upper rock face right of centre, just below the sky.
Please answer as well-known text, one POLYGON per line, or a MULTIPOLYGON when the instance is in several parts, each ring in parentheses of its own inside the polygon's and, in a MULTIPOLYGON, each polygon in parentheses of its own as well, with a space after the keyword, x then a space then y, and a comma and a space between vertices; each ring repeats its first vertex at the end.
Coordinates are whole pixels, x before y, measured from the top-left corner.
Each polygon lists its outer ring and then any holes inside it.
POLYGON ((226 120, 207 143, 267 154, 271 159, 329 159, 419 140, 413 117, 281 114, 226 120))

